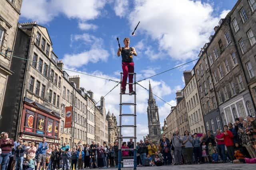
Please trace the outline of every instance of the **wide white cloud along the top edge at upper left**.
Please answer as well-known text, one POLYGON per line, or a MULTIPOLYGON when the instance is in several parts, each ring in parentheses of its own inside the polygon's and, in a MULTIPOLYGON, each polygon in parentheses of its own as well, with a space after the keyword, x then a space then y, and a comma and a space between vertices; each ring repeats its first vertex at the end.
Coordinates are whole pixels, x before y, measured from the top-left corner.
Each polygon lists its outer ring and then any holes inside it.
POLYGON ((104 0, 23 0, 21 17, 38 23, 48 23, 64 14, 81 21, 92 20, 100 15, 104 0))

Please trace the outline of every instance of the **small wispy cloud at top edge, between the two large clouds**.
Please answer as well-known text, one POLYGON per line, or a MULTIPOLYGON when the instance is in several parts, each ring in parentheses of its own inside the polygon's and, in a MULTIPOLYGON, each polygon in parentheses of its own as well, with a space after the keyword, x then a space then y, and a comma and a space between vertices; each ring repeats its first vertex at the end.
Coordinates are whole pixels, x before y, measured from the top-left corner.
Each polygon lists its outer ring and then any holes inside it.
POLYGON ((116 0, 114 3, 114 11, 117 16, 123 17, 130 13, 128 0, 116 0))

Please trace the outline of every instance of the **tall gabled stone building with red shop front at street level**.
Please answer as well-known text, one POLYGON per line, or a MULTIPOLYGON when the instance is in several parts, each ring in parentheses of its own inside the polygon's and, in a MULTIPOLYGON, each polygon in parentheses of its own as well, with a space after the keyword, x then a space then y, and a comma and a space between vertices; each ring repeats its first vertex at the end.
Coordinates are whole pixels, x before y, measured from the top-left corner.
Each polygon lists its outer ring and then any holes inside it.
POLYGON ((2 130, 14 138, 40 141, 46 137, 49 143, 58 143, 62 71, 55 67, 58 57, 46 27, 21 23, 14 55, 29 61, 12 59, 14 74, 8 80, 3 107, 5 120, 12 122, 1 123, 2 130))

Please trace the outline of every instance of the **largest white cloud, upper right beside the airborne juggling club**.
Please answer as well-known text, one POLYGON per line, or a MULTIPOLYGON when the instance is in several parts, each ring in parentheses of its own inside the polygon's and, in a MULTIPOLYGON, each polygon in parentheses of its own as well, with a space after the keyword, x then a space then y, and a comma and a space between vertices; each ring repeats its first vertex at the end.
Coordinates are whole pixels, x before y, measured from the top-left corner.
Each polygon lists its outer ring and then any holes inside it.
MULTIPOLYGON (((191 0, 172 2, 135 0, 134 10, 127 17, 131 29, 136 26, 134 21, 138 20, 140 27, 137 31, 157 41, 159 51, 164 50, 177 60, 195 58, 219 18, 213 16, 212 4, 191 0)), ((147 54, 152 59, 160 56, 150 49, 147 49, 147 54)))

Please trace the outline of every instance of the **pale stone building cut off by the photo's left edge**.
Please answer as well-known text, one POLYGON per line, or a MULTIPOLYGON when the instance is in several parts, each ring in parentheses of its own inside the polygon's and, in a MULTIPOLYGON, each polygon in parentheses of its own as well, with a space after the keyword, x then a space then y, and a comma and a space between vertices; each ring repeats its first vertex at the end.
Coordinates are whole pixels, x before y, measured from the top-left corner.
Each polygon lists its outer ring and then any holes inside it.
POLYGON ((8 76, 14 72, 11 61, 14 50, 14 41, 22 0, 0 1, 0 124, 3 117, 2 106, 6 92, 8 76))

